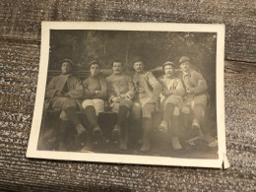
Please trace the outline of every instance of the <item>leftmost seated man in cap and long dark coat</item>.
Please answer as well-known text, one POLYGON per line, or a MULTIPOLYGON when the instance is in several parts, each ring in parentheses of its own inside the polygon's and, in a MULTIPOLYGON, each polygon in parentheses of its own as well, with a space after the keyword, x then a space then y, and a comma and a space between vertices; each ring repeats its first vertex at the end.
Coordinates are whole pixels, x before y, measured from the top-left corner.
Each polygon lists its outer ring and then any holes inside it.
POLYGON ((68 132, 70 129, 69 121, 76 126, 79 135, 86 133, 86 128, 81 124, 76 114, 76 110, 81 106, 80 100, 83 96, 81 81, 72 75, 73 62, 65 59, 61 65, 62 74, 54 77, 46 87, 47 102, 53 110, 62 110, 60 118, 62 126, 57 133, 57 141, 60 151, 67 151, 68 132))

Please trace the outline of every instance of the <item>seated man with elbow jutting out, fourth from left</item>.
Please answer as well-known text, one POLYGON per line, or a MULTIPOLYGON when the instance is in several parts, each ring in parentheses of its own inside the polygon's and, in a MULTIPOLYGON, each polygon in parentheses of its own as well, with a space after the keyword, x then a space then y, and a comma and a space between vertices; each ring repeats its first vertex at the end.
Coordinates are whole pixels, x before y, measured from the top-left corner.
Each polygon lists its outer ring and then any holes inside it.
POLYGON ((151 149, 152 113, 156 110, 161 86, 151 72, 144 70, 142 58, 138 57, 134 60, 133 68, 135 74, 132 76, 132 81, 136 95, 134 97, 132 113, 135 120, 140 119, 142 114, 143 133, 140 151, 148 152, 151 149))

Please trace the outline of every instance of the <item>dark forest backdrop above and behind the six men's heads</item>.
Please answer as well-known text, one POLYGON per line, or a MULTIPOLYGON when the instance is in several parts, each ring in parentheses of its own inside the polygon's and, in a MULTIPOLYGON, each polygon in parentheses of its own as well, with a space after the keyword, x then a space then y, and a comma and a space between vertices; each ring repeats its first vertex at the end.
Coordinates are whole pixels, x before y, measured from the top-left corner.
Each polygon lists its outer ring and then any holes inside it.
POLYGON ((216 93, 216 32, 134 32, 51 30, 49 70, 60 70, 63 59, 73 60, 75 70, 89 70, 98 59, 102 69, 110 69, 113 59, 121 59, 132 70, 135 56, 142 56, 147 70, 169 60, 178 67, 181 56, 189 56, 195 70, 206 78, 210 95, 216 93))

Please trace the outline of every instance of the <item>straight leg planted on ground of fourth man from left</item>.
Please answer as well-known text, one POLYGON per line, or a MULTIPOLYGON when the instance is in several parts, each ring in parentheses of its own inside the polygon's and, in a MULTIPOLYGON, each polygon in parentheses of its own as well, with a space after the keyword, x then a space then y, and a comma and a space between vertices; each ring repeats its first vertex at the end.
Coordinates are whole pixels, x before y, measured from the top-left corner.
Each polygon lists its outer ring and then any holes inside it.
POLYGON ((141 152, 148 152, 151 149, 152 113, 156 110, 155 103, 146 103, 142 106, 142 147, 141 152))

